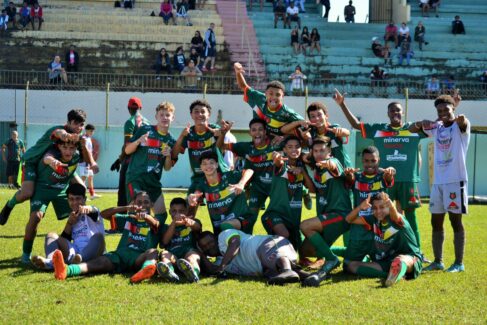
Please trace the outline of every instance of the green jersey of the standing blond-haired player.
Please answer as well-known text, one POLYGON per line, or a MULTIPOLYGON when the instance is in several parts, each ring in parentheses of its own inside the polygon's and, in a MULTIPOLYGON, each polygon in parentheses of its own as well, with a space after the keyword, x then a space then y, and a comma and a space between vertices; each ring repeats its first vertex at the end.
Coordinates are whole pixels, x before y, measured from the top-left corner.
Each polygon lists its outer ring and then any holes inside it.
POLYGON ((130 141, 134 142, 146 133, 149 133, 146 143, 141 143, 131 155, 132 159, 127 170, 128 181, 141 175, 151 175, 160 180, 166 159, 171 159, 162 155, 166 147, 172 148, 176 143, 171 133, 162 134, 157 131, 157 126, 143 125, 130 141))

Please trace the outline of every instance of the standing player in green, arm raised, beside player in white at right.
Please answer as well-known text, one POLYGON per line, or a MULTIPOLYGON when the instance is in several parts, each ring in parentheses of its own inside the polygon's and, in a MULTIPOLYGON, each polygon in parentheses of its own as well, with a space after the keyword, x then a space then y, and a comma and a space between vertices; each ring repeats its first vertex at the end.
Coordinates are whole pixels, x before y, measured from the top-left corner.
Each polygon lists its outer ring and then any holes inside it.
POLYGON ((389 123, 363 123, 350 112, 345 104, 345 97, 335 91, 333 97, 342 109, 352 127, 359 130, 363 138, 374 140, 374 146, 381 156, 380 167, 394 167, 401 171, 396 175, 394 185, 387 189, 391 200, 396 202, 397 209, 404 213, 416 240, 421 248, 421 240, 416 219, 416 209, 421 206, 418 192, 419 177, 419 141, 426 137, 424 132, 409 131, 410 122, 402 121, 404 113, 400 103, 392 102, 387 106, 389 123))

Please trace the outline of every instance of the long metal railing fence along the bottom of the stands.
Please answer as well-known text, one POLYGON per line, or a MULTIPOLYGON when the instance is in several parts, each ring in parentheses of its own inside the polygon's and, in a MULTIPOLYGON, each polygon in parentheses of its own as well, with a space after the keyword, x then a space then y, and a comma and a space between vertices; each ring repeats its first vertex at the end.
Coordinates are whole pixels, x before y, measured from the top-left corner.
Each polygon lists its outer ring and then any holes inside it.
MULTIPOLYGON (((68 83, 59 80, 50 81, 45 71, 0 70, 0 87, 24 89, 29 83, 30 89, 46 90, 106 90, 139 92, 199 92, 218 94, 240 94, 235 76, 207 74, 197 80, 183 76, 154 74, 114 74, 114 73, 68 73, 68 83)), ((257 89, 265 87, 267 80, 246 77, 247 83, 257 89)), ((409 98, 434 98, 439 93, 448 93, 443 89, 427 93, 425 82, 389 79, 383 81, 308 79, 306 83, 309 96, 330 96, 335 88, 346 92, 348 97, 383 97, 402 98, 408 89, 409 98)), ((487 84, 469 81, 457 81, 462 97, 470 100, 487 99, 487 84)), ((295 95, 304 95, 298 93, 295 95)))

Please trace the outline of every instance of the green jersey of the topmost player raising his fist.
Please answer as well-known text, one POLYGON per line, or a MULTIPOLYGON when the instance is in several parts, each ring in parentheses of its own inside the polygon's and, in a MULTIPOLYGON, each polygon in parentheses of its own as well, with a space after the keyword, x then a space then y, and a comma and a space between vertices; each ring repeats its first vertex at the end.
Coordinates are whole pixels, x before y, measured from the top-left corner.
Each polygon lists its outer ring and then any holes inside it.
POLYGON ((250 87, 245 89, 244 101, 252 107, 254 118, 258 117, 267 122, 267 134, 272 136, 283 135, 281 132, 283 125, 304 120, 301 115, 285 104, 275 111, 271 110, 267 107, 265 94, 250 87))

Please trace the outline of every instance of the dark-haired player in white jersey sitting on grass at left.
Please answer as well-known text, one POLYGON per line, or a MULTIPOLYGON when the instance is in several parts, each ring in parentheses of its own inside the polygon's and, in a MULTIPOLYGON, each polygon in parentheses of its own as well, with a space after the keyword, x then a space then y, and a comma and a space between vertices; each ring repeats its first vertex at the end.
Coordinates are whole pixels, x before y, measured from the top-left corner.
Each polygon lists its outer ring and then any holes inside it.
POLYGON ((69 185, 68 204, 71 208, 61 236, 48 233, 44 249, 46 257, 32 256, 32 263, 41 270, 52 270, 52 255, 59 249, 68 264, 90 261, 103 254, 105 236, 103 218, 94 206, 86 204, 86 188, 78 183, 69 185))

